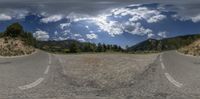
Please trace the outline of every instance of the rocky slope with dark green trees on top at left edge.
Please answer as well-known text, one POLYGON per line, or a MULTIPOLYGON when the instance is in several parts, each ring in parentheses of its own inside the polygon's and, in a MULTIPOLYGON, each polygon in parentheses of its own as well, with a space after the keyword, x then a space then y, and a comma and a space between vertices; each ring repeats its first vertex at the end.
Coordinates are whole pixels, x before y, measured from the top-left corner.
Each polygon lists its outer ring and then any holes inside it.
POLYGON ((0 56, 20 56, 35 52, 35 38, 19 23, 13 23, 0 34, 0 56))

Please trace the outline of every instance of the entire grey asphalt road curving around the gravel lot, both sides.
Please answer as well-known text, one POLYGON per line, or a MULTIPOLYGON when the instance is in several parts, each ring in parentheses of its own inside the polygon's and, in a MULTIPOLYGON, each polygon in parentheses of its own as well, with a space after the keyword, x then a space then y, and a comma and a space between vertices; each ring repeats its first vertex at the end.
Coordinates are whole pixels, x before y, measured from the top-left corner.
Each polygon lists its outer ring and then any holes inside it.
POLYGON ((130 85, 109 91, 94 89, 85 93, 85 90, 73 87, 70 77, 64 74, 59 58, 43 51, 25 57, 0 58, 0 98, 200 98, 200 58, 185 56, 176 51, 161 53, 145 72, 133 78, 130 85))

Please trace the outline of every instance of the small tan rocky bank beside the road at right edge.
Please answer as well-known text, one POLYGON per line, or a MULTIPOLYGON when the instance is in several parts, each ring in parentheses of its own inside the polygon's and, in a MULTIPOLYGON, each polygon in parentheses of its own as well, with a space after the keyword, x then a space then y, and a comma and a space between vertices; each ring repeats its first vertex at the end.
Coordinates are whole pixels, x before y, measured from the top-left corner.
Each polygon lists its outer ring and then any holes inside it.
POLYGON ((200 56, 200 40, 197 40, 189 46, 179 49, 179 52, 193 56, 200 56))

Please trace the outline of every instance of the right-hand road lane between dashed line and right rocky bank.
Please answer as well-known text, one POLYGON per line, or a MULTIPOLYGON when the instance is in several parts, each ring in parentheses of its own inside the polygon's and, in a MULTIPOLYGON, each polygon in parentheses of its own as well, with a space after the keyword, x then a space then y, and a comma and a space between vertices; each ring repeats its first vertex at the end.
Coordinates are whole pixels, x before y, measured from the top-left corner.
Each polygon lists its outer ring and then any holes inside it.
POLYGON ((162 65, 165 67, 164 72, 173 78, 168 80, 175 86, 193 91, 200 90, 200 57, 169 51, 161 55, 161 67, 162 65))

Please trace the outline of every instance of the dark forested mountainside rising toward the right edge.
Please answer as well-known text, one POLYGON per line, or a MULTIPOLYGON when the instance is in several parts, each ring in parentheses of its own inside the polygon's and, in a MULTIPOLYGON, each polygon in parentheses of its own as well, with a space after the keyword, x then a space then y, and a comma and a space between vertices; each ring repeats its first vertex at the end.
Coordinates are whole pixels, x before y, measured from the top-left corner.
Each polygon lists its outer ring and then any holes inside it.
POLYGON ((187 46, 200 39, 200 34, 177 36, 162 40, 148 39, 128 48, 130 52, 159 52, 165 50, 176 50, 187 46))

